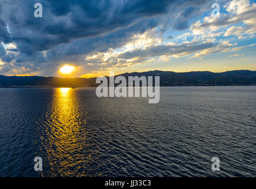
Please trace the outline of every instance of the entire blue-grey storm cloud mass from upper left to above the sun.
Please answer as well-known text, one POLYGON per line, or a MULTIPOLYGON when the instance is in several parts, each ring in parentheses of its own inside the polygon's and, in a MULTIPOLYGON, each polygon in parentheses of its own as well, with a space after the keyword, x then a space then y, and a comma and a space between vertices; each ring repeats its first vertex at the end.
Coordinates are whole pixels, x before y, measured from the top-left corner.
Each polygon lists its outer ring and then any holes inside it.
POLYGON ((82 60, 122 47, 134 34, 157 26, 160 32, 168 26, 184 30, 189 19, 205 11, 203 5, 209 8, 202 0, 0 0, 0 42, 17 46, 2 60, 31 70, 82 60), (43 5, 43 18, 34 17, 37 2, 43 5))

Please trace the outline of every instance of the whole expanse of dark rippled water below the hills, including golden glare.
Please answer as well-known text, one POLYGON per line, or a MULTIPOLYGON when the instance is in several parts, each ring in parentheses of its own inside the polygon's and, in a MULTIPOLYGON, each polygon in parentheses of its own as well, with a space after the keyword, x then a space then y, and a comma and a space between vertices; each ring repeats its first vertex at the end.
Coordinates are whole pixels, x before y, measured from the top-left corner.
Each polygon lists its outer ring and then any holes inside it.
POLYGON ((94 88, 0 89, 0 176, 256 176, 256 86, 160 94, 148 104, 94 88))

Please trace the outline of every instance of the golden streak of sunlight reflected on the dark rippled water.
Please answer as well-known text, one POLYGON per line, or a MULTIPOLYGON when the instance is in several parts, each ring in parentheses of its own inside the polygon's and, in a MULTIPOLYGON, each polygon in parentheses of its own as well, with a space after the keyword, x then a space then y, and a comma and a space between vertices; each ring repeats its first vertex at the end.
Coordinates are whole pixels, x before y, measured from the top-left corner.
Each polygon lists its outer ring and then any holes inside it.
POLYGON ((40 150, 48 164, 43 176, 86 176, 83 169, 92 161, 93 152, 88 150, 90 129, 85 113, 79 110, 74 90, 55 90, 41 129, 40 150))

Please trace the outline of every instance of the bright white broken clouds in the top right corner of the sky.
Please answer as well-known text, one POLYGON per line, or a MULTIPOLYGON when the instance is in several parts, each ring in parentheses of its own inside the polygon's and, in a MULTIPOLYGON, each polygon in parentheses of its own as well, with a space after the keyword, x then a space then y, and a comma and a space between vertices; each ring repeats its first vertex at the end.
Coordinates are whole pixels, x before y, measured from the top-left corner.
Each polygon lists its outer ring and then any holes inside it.
POLYGON ((229 25, 242 23, 244 24, 243 27, 232 26, 223 36, 236 35, 241 38, 243 34, 252 35, 256 32, 255 3, 250 4, 249 0, 233 0, 225 7, 227 14, 221 14, 221 17, 205 17, 202 23, 200 21, 195 22, 190 30, 194 35, 203 35, 223 27, 229 27, 229 25))

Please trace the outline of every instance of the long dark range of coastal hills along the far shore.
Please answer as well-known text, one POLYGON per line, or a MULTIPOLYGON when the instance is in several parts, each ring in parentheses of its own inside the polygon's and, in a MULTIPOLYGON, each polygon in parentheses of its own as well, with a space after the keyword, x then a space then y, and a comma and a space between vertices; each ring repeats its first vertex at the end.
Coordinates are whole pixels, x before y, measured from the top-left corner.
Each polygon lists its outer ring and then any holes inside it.
MULTIPOLYGON (((222 73, 210 71, 145 71, 124 73, 119 76, 160 76, 160 86, 229 86, 256 85, 256 71, 235 70, 222 73)), ((1 76, 0 87, 93 87, 96 78, 60 78, 41 76, 1 76)))

